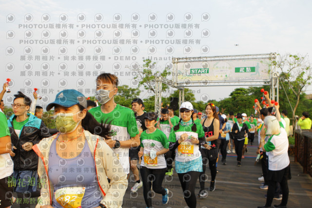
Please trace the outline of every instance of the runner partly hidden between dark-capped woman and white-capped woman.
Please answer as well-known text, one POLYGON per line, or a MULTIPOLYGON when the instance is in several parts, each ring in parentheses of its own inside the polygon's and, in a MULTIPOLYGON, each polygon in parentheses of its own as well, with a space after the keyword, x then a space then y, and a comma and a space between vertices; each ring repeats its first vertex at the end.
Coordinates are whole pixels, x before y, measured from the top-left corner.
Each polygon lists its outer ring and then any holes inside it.
MULTIPOLYGON (((157 119, 156 128, 164 132, 168 139, 170 132, 171 132, 171 128, 175 125, 176 125, 176 120, 169 116, 169 110, 166 108, 162 108, 161 117, 159 120, 157 119)), ((175 158, 172 156, 173 154, 174 153, 172 151, 168 151, 165 154, 165 159, 167 163, 166 175, 169 175, 169 176, 172 176, 174 174, 172 164, 175 158)))

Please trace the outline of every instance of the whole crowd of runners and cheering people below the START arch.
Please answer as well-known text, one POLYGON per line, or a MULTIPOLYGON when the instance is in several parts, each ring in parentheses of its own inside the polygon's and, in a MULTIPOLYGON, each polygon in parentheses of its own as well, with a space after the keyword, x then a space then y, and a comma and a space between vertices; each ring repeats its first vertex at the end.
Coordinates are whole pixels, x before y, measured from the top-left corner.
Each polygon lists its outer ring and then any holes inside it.
MULTIPOLYGON (((162 183, 166 175, 173 177, 175 167, 181 194, 187 206, 195 208, 197 198, 206 198, 215 190, 219 152, 222 165, 227 165, 227 153, 233 152, 237 166, 242 166, 249 143, 259 144, 256 153, 260 155, 259 180, 263 182, 259 188, 267 189, 266 204, 260 207, 271 207, 273 199, 282 200, 274 207, 287 206, 290 120, 286 110, 280 113, 279 105, 271 104, 268 94, 268 107, 256 103, 258 116, 222 114, 213 103, 199 110, 184 102, 178 116, 174 115, 176 109, 168 106, 161 108, 158 117, 158 112, 145 112, 139 98, 132 101, 132 109, 116 104, 115 75, 100 74, 96 82, 96 102, 68 89, 47 105, 47 111, 54 108, 58 132, 53 135, 41 120, 43 108, 36 106, 37 93, 33 102, 20 91, 15 94, 13 115, 8 120, 1 100, 2 207, 17 202, 26 208, 34 197, 39 197, 36 203, 42 208, 121 207, 131 176, 136 181, 131 191, 143 187, 146 207, 151 208, 152 190, 161 194, 162 204, 168 203, 170 190, 162 183), (258 142, 254 141, 255 134, 258 142), (211 177, 206 188, 207 167, 211 177)), ((6 87, 7 83, 3 84, 1 99, 6 87)), ((298 125, 311 128, 307 112, 298 125)))

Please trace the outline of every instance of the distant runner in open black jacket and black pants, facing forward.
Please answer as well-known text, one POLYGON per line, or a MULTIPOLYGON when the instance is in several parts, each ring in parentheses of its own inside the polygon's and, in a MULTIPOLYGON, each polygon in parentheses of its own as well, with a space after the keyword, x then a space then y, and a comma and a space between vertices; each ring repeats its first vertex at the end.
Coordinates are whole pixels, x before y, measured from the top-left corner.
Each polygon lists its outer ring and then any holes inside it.
POLYGON ((242 123, 242 114, 237 114, 237 122, 233 125, 232 133, 234 133, 235 151, 237 154, 237 166, 241 166, 242 151, 247 137, 248 127, 245 123, 242 123))

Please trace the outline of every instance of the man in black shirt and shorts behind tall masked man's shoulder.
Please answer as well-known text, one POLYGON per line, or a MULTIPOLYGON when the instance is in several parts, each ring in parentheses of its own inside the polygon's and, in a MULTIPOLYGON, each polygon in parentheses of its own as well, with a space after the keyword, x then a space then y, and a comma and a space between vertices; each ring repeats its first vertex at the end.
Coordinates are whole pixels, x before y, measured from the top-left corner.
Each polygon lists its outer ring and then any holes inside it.
MULTIPOLYGON (((146 130, 145 127, 145 121, 144 118, 146 117, 147 113, 143 112, 142 110, 142 105, 143 101, 139 98, 136 98, 132 101, 132 110, 135 112, 136 115, 136 120, 137 120, 137 128, 139 132, 139 136, 143 131, 146 130)), ((137 165, 140 164, 140 159, 138 157, 138 152, 140 150, 140 146, 137 147, 131 147, 129 150, 129 155, 130 155, 130 169, 133 172, 133 175, 135 176, 136 183, 135 185, 131 188, 132 192, 137 192, 137 189, 143 186, 142 181, 139 178, 139 172, 137 169, 137 165)))

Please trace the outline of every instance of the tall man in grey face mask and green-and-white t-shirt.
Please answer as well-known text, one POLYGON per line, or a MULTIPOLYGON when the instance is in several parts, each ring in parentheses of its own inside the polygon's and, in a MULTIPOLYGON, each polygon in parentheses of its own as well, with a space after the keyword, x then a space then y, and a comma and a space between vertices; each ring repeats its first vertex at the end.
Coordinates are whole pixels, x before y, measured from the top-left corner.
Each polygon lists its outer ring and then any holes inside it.
POLYGON ((114 96, 118 91, 117 82, 118 78, 110 73, 102 73, 97 77, 96 99, 102 105, 91 108, 89 112, 98 123, 106 120, 111 122, 111 130, 114 133, 112 139, 107 139, 105 142, 113 148, 125 173, 128 174, 129 148, 138 146, 140 139, 134 112, 114 102, 114 96))

